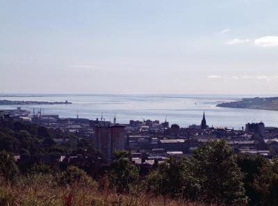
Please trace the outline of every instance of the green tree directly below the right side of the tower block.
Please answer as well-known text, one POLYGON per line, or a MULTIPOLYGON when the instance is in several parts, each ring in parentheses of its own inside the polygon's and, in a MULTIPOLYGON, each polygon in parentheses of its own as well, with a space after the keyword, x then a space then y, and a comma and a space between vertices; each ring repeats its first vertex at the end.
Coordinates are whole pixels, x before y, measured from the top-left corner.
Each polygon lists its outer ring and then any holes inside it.
POLYGON ((108 179, 111 187, 118 192, 129 192, 131 184, 138 180, 138 169, 129 160, 130 152, 113 152, 115 159, 111 164, 108 179))

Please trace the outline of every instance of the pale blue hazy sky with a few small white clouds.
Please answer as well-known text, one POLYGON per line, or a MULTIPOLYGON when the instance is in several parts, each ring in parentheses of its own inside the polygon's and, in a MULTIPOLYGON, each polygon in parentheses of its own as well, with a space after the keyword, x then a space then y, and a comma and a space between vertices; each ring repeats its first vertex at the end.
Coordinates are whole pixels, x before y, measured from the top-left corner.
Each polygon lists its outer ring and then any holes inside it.
POLYGON ((0 93, 278 92, 277 0, 0 0, 0 93))

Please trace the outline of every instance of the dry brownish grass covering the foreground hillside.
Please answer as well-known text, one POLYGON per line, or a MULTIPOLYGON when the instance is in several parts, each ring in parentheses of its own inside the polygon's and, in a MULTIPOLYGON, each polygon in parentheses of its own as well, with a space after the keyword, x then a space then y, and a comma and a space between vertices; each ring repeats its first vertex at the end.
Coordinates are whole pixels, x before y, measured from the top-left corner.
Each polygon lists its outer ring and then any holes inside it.
MULTIPOLYGON (((164 205, 163 198, 147 193, 125 195, 109 189, 97 189, 97 184, 59 185, 50 175, 31 175, 18 177, 13 183, 0 180, 1 206, 160 206, 164 205)), ((182 200, 167 199, 167 205, 203 206, 201 203, 189 203, 182 200)))

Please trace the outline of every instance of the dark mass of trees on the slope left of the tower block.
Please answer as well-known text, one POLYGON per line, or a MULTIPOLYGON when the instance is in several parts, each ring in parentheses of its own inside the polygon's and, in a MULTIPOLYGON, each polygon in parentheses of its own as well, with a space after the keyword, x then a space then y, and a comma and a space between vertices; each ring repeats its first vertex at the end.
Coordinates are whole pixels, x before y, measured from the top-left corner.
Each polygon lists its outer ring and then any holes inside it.
POLYGON ((47 129, 35 124, 22 122, 0 121, 0 151, 14 155, 95 155, 94 145, 90 138, 78 138, 74 134, 62 134, 60 129, 47 129), (54 138, 70 138, 73 141, 63 141, 56 144, 54 138))

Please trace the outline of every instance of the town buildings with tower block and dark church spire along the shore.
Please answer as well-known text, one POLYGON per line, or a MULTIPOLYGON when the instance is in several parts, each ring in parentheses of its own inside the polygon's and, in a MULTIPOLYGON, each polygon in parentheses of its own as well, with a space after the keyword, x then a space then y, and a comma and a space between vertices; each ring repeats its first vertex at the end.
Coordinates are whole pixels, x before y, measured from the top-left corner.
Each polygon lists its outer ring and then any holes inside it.
MULTIPOLYGON (((265 127, 263 122, 248 123, 245 129, 240 130, 208 127, 205 113, 201 116, 200 125, 188 127, 180 127, 177 124, 169 127, 167 120, 165 122, 130 120, 129 124, 120 125, 114 123, 115 120, 112 123, 102 118, 101 120, 59 118, 58 115, 43 113, 34 113, 31 116, 30 112, 21 109, 1 111, 0 114, 1 121, 4 119, 25 121, 24 118, 30 118, 31 123, 54 129, 58 134, 54 138, 56 144, 74 143, 77 141, 76 138, 90 138, 101 154, 99 158, 104 157, 107 164, 113 159, 113 152, 117 150, 129 150, 131 157, 136 158, 136 162, 151 164, 169 157, 190 157, 200 145, 222 139, 234 149, 235 153, 278 157, 277 127, 265 127), (75 138, 69 138, 70 134, 75 138)), ((78 159, 82 159, 81 156, 78 159)))

